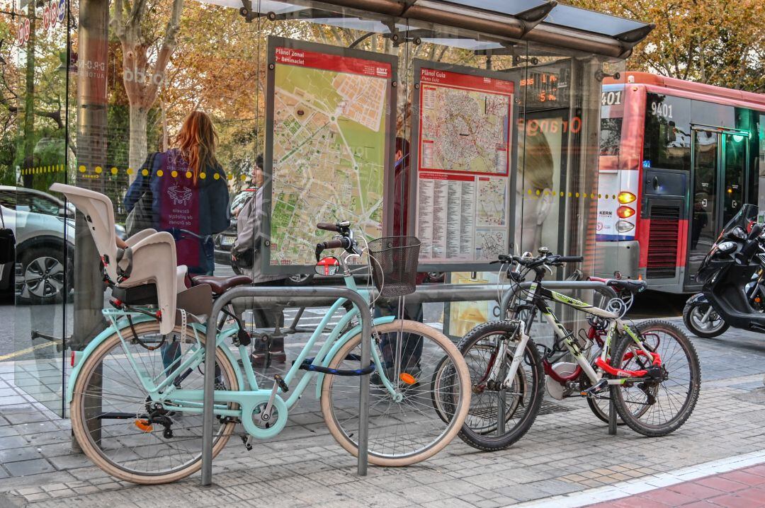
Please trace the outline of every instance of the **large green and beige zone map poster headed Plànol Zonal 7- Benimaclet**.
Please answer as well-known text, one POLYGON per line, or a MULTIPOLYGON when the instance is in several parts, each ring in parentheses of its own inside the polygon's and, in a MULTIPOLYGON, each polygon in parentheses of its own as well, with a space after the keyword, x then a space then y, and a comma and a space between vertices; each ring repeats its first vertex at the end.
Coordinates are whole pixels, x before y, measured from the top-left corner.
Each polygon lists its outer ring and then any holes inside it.
POLYGON ((383 235, 395 79, 395 57, 269 37, 265 273, 312 271, 317 222, 383 235))

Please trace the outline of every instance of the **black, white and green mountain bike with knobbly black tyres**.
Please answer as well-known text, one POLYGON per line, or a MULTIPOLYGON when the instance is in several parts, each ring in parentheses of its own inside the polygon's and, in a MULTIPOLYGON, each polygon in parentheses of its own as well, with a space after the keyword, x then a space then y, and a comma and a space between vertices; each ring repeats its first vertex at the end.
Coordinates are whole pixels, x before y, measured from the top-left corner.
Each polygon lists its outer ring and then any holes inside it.
MULTIPOLYGON (((457 345, 470 370, 473 396, 460 437, 482 450, 507 448, 531 428, 542 404, 545 373, 548 386, 561 386, 558 396, 583 396, 591 409, 607 421, 601 401, 614 398, 620 419, 643 435, 666 435, 679 429, 698 400, 700 367, 691 341, 669 322, 652 320, 632 325, 623 321, 627 306, 614 299, 601 309, 544 287, 552 267, 581 262, 581 257, 559 256, 540 250, 537 257, 500 256, 496 263, 519 270, 508 272, 520 283, 534 280, 513 309, 516 317, 478 325, 457 345), (601 342, 600 353, 588 356, 583 345, 555 316, 549 303, 560 303, 589 315, 588 338, 601 342), (618 303, 617 303, 618 302, 618 303), (541 312, 555 332, 552 348, 535 344, 529 335, 541 312), (613 350, 613 351, 612 351, 613 350), (565 368, 555 360, 571 354, 575 364, 565 368), (618 360, 614 360, 618 359, 618 360), (550 384, 552 377, 552 385, 550 384)), ((612 280, 617 292, 640 293, 643 281, 612 280)), ((568 362, 566 362, 568 363, 568 362)), ((439 413, 444 411, 433 400, 439 413)))

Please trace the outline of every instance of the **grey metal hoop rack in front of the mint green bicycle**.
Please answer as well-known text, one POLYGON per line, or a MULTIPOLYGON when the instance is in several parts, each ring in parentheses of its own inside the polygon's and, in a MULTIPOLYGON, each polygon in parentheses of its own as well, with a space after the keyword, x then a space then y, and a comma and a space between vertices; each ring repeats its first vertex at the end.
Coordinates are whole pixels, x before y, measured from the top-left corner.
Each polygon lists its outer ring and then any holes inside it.
MULTIPOLYGON (((368 365, 371 356, 369 341, 372 335, 372 314, 369 303, 353 290, 345 287, 268 287, 239 286, 219 296, 213 310, 207 317, 207 335, 204 345, 206 365, 215 364, 217 317, 231 300, 236 298, 263 297, 264 303, 289 305, 300 301, 308 306, 317 306, 327 300, 339 298, 350 300, 360 312, 361 321, 361 364, 368 365)), ((204 407, 202 420, 202 487, 213 483, 213 395, 215 390, 215 369, 204 370, 204 407)), ((359 457, 357 472, 366 476, 367 448, 369 445, 369 374, 360 377, 359 390, 359 457)))

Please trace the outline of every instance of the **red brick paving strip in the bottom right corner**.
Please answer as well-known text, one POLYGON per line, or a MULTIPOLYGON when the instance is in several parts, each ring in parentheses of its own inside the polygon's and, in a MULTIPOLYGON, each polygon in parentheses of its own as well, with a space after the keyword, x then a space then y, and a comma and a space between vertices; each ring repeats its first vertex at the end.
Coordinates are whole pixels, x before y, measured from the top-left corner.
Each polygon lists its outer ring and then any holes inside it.
POLYGON ((588 508, 758 508, 765 506, 765 464, 713 474, 588 508))

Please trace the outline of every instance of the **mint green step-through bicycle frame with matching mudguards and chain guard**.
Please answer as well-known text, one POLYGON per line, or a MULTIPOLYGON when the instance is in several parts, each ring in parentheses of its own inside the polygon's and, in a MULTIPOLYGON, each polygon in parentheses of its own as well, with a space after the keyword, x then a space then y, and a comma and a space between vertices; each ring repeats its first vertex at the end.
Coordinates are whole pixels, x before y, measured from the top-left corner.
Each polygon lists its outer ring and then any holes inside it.
MULTIPOLYGON (((347 269, 344 260, 343 269, 345 270, 343 273, 343 279, 346 283, 346 286, 350 290, 360 293, 367 301, 369 301, 369 292, 366 290, 360 290, 356 287, 356 281, 353 279, 350 270, 347 269)), ((308 358, 308 354, 310 354, 311 349, 314 347, 321 335, 324 334, 330 320, 334 317, 338 310, 341 309, 343 303, 346 301, 346 299, 337 299, 337 301, 332 306, 330 306, 327 314, 324 315, 323 319, 321 319, 321 322, 319 325, 317 325, 317 328, 314 330, 311 338, 308 339, 308 342, 306 345, 304 345, 300 354, 298 354, 298 358, 295 359, 295 362, 291 365, 287 374, 285 374, 284 381, 287 385, 291 384, 291 382, 298 378, 298 370, 301 370, 301 364, 306 358, 308 358)), ((134 323, 147 322, 151 321, 152 319, 148 319, 142 312, 139 311, 136 312, 121 309, 104 309, 103 315, 107 320, 109 320, 109 322, 111 322, 111 326, 107 328, 105 332, 99 335, 96 340, 90 343, 89 347, 86 348, 86 351, 83 351, 79 361, 77 361, 77 366, 72 371, 70 376, 70 400, 73 394, 71 390, 73 390, 77 376, 80 373, 80 367, 84 363, 84 360, 93 353, 97 345, 106 340, 106 338, 109 338, 109 336, 116 333, 122 342, 122 349, 125 352, 127 361, 137 375, 139 382, 142 384, 142 387, 148 392, 152 401, 162 403, 165 409, 170 409, 182 413, 201 414, 203 412, 203 390, 184 390, 183 388, 178 388, 173 383, 173 380, 175 380, 177 377, 184 376, 184 373, 186 373, 187 370, 196 369, 201 364, 203 364, 204 347, 200 341, 200 335, 205 334, 205 328, 203 325, 191 325, 191 330, 194 333, 194 338, 196 339, 196 344, 190 347, 191 353, 186 354, 186 358, 184 358, 183 355, 181 355, 181 358, 177 358, 174 363, 178 362, 178 364, 171 364, 168 369, 163 370, 163 372, 158 377, 164 377, 164 379, 158 380, 152 378, 145 371, 142 371, 142 369, 139 368, 138 362, 136 362, 135 358, 133 358, 133 354, 129 348, 129 338, 125 338, 125 335, 128 335, 128 337, 130 335, 129 332, 131 331, 131 325, 126 319, 121 318, 126 318, 127 316, 142 317, 142 319, 134 319, 134 323), (128 333, 126 334, 126 332, 128 333)), ((340 332, 345 329, 357 315, 359 315, 359 311, 355 307, 352 311, 347 312, 346 315, 343 315, 343 317, 340 319, 340 322, 335 325, 334 328, 329 332, 329 335, 327 335, 327 340, 323 345, 321 345, 321 348, 315 355, 312 364, 326 367, 330 360, 334 358, 335 354, 337 354, 337 351, 339 351, 347 341, 361 332, 361 325, 356 325, 347 332, 344 332, 343 335, 340 335, 340 332)), ((396 319, 395 316, 386 316, 373 319, 373 326, 386 324, 392 322, 394 319, 396 319)), ((235 323, 233 326, 221 329, 216 334, 216 346, 222 346, 221 349, 224 351, 226 356, 229 356, 229 360, 233 360, 233 355, 226 347, 225 341, 227 338, 234 337, 237 332, 239 332, 239 326, 235 323)), ((295 404, 298 402, 308 387, 308 383, 310 383, 314 377, 317 377, 316 396, 317 398, 321 396, 321 383, 324 378, 324 374, 310 370, 304 371, 304 374, 299 377, 297 386, 294 389, 288 390, 291 392, 291 394, 288 396, 287 400, 282 397, 285 393, 282 392, 277 383, 274 384, 274 387, 269 389, 260 388, 256 379, 255 371, 253 370, 252 364, 249 361, 249 352, 247 351, 246 346, 239 345, 237 349, 239 352, 239 358, 242 360, 242 367, 239 367, 239 362, 237 361, 232 361, 231 364, 235 371, 236 378, 239 380, 240 389, 236 391, 215 390, 215 405, 213 406, 213 413, 216 416, 220 416, 222 418, 230 417, 240 419, 246 432, 248 432, 253 437, 271 438, 275 435, 278 435, 278 433, 281 432, 286 425, 288 409, 295 406, 295 404), (242 373, 242 370, 244 370, 244 373, 242 373), (246 380, 249 384, 249 390, 244 390, 245 387, 243 380, 246 380), (275 422, 272 422, 269 428, 262 428, 256 425, 252 419, 252 415, 256 413, 257 409, 263 409, 263 407, 265 407, 269 401, 272 401, 273 408, 276 410, 279 417, 278 419, 275 419, 275 422), (238 405, 239 408, 235 409, 236 405, 238 405)), ((382 383, 386 390, 389 390, 394 398, 400 397, 400 393, 397 393, 396 388, 386 377, 385 369, 382 368, 382 361, 379 358, 379 354, 376 348, 372 348, 372 361, 376 366, 377 372, 379 372, 382 383)))

